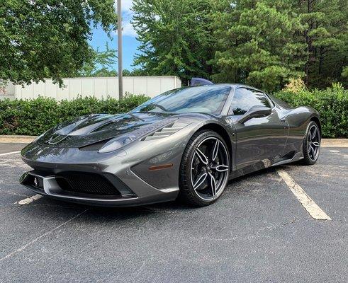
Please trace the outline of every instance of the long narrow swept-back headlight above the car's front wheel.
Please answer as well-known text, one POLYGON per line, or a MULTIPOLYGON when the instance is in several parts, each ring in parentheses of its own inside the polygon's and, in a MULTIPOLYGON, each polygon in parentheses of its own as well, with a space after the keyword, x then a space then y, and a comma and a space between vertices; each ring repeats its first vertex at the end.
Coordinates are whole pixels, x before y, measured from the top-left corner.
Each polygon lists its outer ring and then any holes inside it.
POLYGON ((147 134, 151 134, 154 131, 157 131, 158 129, 162 129, 163 127, 166 127, 169 124, 172 124, 175 122, 176 119, 166 119, 160 122, 156 122, 152 125, 147 125, 145 127, 141 127, 140 129, 136 129, 133 132, 130 132, 128 134, 123 134, 120 137, 116 137, 115 139, 111 139, 108 141, 101 149, 99 149, 99 154, 106 154, 111 151, 116 151, 117 149, 122 148, 123 146, 126 146, 127 144, 130 144, 132 141, 135 141, 135 139, 140 139, 147 134))

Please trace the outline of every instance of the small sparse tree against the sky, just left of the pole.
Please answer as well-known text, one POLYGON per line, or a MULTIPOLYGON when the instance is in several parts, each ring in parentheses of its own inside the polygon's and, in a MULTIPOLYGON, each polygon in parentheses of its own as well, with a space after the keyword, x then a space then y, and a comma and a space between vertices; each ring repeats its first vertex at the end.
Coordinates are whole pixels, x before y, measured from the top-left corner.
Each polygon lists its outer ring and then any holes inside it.
POLYGON ((91 57, 76 76, 117 76, 117 71, 113 69, 117 62, 116 58, 116 50, 110 49, 106 42, 105 50, 93 50, 91 57))

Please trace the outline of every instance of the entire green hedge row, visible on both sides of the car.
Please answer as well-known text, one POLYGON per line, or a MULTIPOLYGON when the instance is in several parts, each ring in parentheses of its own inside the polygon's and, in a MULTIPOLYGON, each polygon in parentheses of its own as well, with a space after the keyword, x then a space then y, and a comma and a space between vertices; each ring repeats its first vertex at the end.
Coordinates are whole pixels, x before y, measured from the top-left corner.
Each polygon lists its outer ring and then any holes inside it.
MULTIPOLYGON (((293 107, 308 105, 320 112, 323 137, 348 137, 348 90, 333 86, 325 90, 305 89, 274 93, 293 107)), ((146 96, 121 100, 77 98, 57 102, 52 98, 0 100, 0 134, 38 135, 60 122, 91 113, 123 113, 144 103, 146 96)))

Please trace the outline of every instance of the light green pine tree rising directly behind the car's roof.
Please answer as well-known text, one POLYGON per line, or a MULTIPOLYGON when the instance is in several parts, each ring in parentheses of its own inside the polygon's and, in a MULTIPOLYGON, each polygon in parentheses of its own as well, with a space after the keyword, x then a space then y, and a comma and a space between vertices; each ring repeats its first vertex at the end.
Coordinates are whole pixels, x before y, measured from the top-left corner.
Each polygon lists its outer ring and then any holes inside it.
POLYGON ((304 45, 292 40, 301 23, 288 0, 223 0, 215 4, 215 81, 275 91, 302 76, 304 45))

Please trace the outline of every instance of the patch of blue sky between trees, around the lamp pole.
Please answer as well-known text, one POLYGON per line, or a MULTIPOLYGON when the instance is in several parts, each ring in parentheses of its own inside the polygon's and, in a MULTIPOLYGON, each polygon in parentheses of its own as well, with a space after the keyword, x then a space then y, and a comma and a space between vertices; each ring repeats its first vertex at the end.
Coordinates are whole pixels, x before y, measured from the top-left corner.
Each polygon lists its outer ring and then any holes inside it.
MULTIPOLYGON (((132 0, 122 0, 122 18, 123 18, 123 69, 133 70, 132 67, 134 55, 137 52, 139 42, 136 40, 135 30, 130 24, 133 12, 130 11, 132 7, 132 0)), ((93 38, 90 42, 91 46, 99 50, 105 50, 106 42, 111 49, 118 50, 117 47, 117 33, 111 34, 112 40, 99 28, 94 28, 93 38)), ((115 66, 117 69, 117 64, 115 66)))

